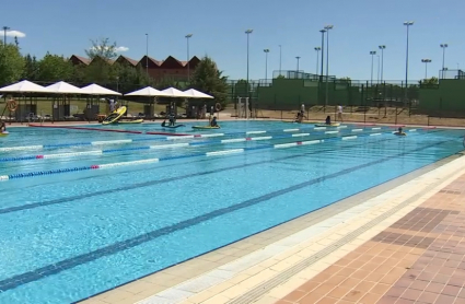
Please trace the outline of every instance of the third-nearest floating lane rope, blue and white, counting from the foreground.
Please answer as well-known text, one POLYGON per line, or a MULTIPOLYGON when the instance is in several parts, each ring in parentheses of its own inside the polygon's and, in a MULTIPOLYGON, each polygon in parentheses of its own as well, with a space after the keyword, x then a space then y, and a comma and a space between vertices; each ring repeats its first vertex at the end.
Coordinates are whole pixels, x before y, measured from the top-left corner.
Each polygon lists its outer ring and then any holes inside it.
MULTIPOLYGON (((345 126, 342 126, 342 127, 345 127, 345 126)), ((309 130, 309 129, 325 130, 326 127, 283 129, 282 132, 297 132, 297 131, 309 130)), ((332 129, 335 129, 335 128, 332 128, 332 129)), ((370 128, 367 128, 367 129, 370 129, 370 128)), ((373 128, 371 128, 371 129, 373 129, 373 128)), ((379 129, 379 128, 375 128, 375 129, 379 129)), ((359 130, 363 130, 363 129, 359 129, 359 130)), ((181 137, 165 137, 165 138, 158 138, 158 139, 153 139, 153 138, 117 139, 117 140, 88 141, 88 142, 72 142, 72 143, 36 144, 36 145, 22 145, 22 147, 0 147, 0 153, 1 152, 13 152, 13 151, 39 151, 39 150, 44 150, 44 149, 60 149, 60 148, 86 147, 86 145, 126 144, 126 143, 131 143, 131 142, 155 141, 155 140, 171 141, 171 140, 198 139, 198 138, 211 138, 211 137, 225 137, 225 136, 236 136, 236 135, 244 135, 244 133, 247 136, 247 135, 270 133, 270 132, 280 132, 280 131, 281 130, 270 130, 270 131, 264 130, 264 131, 247 131, 247 132, 233 132, 233 133, 189 135, 189 136, 181 136, 181 137)), ((313 132, 313 133, 316 133, 316 132, 313 132)), ((32 157, 32 159, 34 159, 34 157, 32 157)), ((24 160, 30 160, 30 159, 24 159, 24 160)))

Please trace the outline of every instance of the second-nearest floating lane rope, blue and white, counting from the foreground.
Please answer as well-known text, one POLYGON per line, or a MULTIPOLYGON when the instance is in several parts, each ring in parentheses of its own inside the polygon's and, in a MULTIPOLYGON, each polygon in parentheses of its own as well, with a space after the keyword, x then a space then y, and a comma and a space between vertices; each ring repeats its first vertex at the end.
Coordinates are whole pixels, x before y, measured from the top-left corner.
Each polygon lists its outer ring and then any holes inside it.
MULTIPOLYGON (((332 133, 338 133, 338 131, 326 131, 325 133, 332 135, 332 133)), ((370 133, 370 135, 376 136, 381 133, 370 133)), ((207 136, 213 137, 216 135, 213 133, 213 135, 207 135, 207 136)), ((298 138, 298 137, 310 137, 310 136, 312 136, 312 133, 293 133, 293 135, 286 133, 283 136, 276 136, 276 137, 272 137, 272 136, 246 137, 246 138, 234 138, 234 139, 222 139, 222 140, 208 140, 208 141, 201 141, 201 142, 182 142, 182 143, 142 145, 142 147, 123 148, 123 149, 106 149, 106 150, 94 150, 94 151, 83 151, 83 152, 25 155, 25 156, 18 156, 18 157, 3 157, 3 159, 0 159, 0 163, 32 161, 32 160, 66 159, 66 157, 86 156, 86 155, 101 155, 106 153, 126 152, 126 151, 176 149, 176 148, 186 148, 186 147, 195 147, 195 145, 224 144, 224 143, 236 143, 236 142, 245 142, 245 141, 261 141, 261 140, 286 139, 286 138, 298 138)), ((344 137, 344 140, 348 140, 348 139, 351 139, 351 137, 344 137)))

